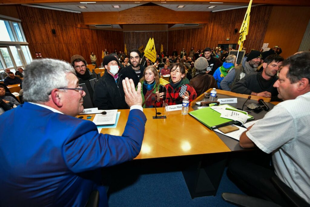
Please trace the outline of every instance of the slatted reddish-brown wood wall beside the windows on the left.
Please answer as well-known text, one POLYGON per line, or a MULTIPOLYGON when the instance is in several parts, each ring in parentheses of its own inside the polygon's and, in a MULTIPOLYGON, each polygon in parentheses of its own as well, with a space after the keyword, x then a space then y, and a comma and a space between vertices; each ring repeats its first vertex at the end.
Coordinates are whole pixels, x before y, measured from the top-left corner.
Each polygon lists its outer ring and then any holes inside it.
POLYGON ((102 50, 124 49, 123 32, 89 29, 82 14, 25 6, 17 6, 17 11, 33 59, 35 52, 41 52, 42 57, 70 62, 71 56, 79 54, 90 64, 94 52, 100 66, 102 50))

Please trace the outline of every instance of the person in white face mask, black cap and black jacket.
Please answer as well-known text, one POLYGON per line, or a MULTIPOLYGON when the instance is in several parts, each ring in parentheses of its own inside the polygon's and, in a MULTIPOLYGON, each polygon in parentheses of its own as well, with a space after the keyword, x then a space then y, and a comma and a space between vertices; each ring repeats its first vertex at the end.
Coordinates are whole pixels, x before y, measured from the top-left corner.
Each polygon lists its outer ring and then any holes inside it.
POLYGON ((118 74, 117 59, 113 55, 103 59, 104 75, 96 82, 94 92, 94 105, 100 110, 128 109, 122 86, 124 79, 118 74))

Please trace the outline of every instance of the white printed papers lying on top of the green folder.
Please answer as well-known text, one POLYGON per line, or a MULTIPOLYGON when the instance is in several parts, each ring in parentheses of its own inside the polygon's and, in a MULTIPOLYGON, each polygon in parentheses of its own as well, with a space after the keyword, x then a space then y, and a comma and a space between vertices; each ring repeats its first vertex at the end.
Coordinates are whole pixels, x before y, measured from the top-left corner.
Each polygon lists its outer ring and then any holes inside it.
POLYGON ((220 117, 238 121, 242 125, 246 123, 247 119, 251 118, 250 116, 248 116, 248 113, 246 111, 232 108, 229 105, 212 106, 211 109, 220 113, 220 117))

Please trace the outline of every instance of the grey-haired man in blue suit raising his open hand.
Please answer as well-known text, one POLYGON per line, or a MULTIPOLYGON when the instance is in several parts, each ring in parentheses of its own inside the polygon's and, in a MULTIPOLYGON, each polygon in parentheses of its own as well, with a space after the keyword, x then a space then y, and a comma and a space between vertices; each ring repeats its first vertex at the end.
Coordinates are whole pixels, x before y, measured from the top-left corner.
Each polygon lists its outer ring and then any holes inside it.
POLYGON ((1 115, 0 206, 85 206, 92 190, 107 196, 100 168, 135 158, 146 117, 132 80, 123 80, 131 110, 122 136, 100 134, 91 121, 77 119, 85 92, 73 67, 64 61, 35 60, 27 65, 23 105, 1 115))

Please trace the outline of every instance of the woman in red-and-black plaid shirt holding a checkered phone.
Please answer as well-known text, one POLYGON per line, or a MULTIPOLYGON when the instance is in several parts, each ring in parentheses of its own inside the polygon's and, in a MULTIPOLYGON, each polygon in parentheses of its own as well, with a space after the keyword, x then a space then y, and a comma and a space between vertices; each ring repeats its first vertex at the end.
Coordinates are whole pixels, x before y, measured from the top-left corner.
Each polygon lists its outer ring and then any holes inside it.
MULTIPOLYGON (((168 103, 168 105, 176 105, 176 104, 182 104, 184 96, 187 96, 189 101, 193 101, 197 97, 197 93, 195 89, 189 85, 188 79, 185 77, 185 67, 183 64, 174 64, 172 65, 170 69, 170 81, 169 84, 165 85, 165 88, 167 89, 166 92, 166 100, 165 102, 168 103), (179 92, 181 90, 181 87, 185 85, 186 91, 184 95, 181 97, 179 96, 179 92)), ((163 96, 164 93, 156 92, 157 94, 157 103, 156 106, 161 107, 164 100, 163 96)))

